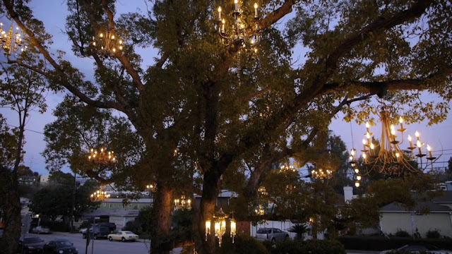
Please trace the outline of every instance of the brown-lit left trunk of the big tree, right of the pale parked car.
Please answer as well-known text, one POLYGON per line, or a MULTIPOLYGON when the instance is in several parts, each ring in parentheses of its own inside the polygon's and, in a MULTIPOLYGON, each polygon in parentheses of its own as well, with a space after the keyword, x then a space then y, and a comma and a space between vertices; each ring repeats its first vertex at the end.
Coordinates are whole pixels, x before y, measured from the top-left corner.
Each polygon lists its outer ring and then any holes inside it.
POLYGON ((169 254, 172 250, 172 241, 169 236, 172 214, 172 196, 174 188, 169 188, 165 184, 157 183, 155 193, 155 219, 156 227, 151 234, 150 253, 169 254))

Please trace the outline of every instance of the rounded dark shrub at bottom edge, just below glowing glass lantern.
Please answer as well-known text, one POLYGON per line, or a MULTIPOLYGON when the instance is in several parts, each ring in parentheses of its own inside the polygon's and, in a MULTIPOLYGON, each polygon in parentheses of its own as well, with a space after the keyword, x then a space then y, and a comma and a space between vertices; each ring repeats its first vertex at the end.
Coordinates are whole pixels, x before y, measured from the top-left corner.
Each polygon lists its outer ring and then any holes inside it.
POLYGON ((251 236, 237 235, 232 243, 231 238, 223 238, 220 254, 270 254, 265 246, 251 236))

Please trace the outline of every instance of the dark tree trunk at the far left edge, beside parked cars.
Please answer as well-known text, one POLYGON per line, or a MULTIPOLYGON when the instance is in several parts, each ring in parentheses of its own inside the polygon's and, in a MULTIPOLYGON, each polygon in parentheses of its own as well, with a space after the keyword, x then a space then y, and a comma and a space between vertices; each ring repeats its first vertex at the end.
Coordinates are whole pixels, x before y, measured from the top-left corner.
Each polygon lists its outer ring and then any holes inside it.
POLYGON ((0 167, 0 208, 5 220, 3 237, 0 238, 1 253, 16 253, 20 238, 20 198, 17 176, 6 167, 0 167))

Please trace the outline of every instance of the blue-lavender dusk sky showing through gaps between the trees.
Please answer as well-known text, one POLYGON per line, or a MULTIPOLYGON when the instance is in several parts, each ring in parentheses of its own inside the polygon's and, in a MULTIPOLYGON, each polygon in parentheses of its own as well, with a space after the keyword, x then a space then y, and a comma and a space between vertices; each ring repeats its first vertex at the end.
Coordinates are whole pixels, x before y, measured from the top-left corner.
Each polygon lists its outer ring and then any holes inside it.
MULTIPOLYGON (((66 1, 42 1, 34 0, 32 1, 32 6, 35 11, 36 18, 44 22, 47 32, 52 34, 54 44, 51 45, 51 52, 56 52, 57 49, 66 52, 65 59, 71 61, 76 67, 78 67, 87 77, 91 78, 93 75, 93 61, 91 59, 77 59, 73 56, 70 48, 69 40, 62 31, 64 31, 65 18, 66 18, 66 1)), ((144 0, 123 0, 120 2, 120 6, 117 6, 119 12, 129 12, 136 11, 138 8, 145 10, 144 0)), ((0 20, 9 26, 11 23, 6 19, 6 17, 0 17, 0 20)), ((156 52, 153 49, 143 49, 143 53, 146 57, 143 66, 149 66, 153 62, 153 56, 156 52)), ((141 52, 141 51, 140 51, 141 52)), ((304 53, 296 52, 296 56, 302 56, 304 53)), ((294 57, 296 59, 296 57, 294 57)), ((1 54, 0 61, 4 61, 4 56, 1 54)), ((429 98, 429 95, 426 95, 429 98)), ((38 114, 37 112, 32 112, 29 121, 25 128, 25 162, 24 164, 32 169, 32 171, 37 171, 39 174, 47 175, 49 172, 45 169, 44 157, 40 155, 40 152, 44 150, 45 143, 43 141, 44 126, 47 123, 54 121, 52 116, 52 110, 56 105, 61 102, 62 95, 54 95, 49 92, 47 95, 48 109, 45 114, 38 114)), ((18 126, 18 116, 15 112, 11 112, 9 109, 0 108, 0 114, 3 114, 8 119, 8 124, 10 126, 18 126)), ((427 122, 422 122, 419 124, 412 124, 406 126, 408 128, 406 135, 410 134, 414 137, 415 131, 420 131, 421 140, 426 145, 429 144, 432 147, 432 153, 434 157, 442 154, 438 161, 434 164, 434 167, 447 167, 447 161, 452 156, 452 144, 451 135, 449 131, 452 129, 452 115, 448 114, 448 119, 444 123, 440 123, 435 126, 427 126, 427 122)), ((343 121, 343 117, 338 115, 338 117, 333 121, 330 129, 335 133, 335 135, 340 135, 343 141, 346 143, 347 148, 350 150, 353 146, 357 150, 362 149, 362 138, 364 137, 365 127, 358 126, 357 123, 346 123, 343 121), (351 134, 352 133, 352 134, 351 134), (353 135, 353 138, 352 138, 353 135)), ((373 132, 376 138, 380 136, 379 126, 373 127, 373 132)), ((408 144, 400 145, 401 148, 405 149, 408 144)), ((425 145, 423 147, 425 150, 425 145)), ((426 151, 425 151, 426 152, 426 151)), ((359 153, 360 154, 360 153, 359 153)), ((117 155, 120 158, 120 155, 117 155)), ((68 169, 63 169, 68 171, 68 169)))

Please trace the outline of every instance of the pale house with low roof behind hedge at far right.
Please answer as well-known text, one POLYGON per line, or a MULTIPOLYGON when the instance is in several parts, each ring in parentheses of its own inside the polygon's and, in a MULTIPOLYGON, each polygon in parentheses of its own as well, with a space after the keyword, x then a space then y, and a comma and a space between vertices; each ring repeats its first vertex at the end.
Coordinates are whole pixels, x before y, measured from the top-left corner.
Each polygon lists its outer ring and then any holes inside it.
POLYGON ((432 201, 420 202, 414 210, 406 210, 400 203, 393 202, 380 208, 380 228, 385 234, 407 231, 426 237, 428 231, 438 231, 441 236, 452 237, 452 191, 432 201), (416 211, 428 207, 429 213, 416 211))

